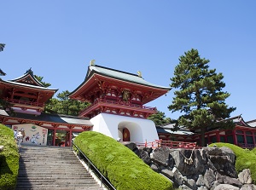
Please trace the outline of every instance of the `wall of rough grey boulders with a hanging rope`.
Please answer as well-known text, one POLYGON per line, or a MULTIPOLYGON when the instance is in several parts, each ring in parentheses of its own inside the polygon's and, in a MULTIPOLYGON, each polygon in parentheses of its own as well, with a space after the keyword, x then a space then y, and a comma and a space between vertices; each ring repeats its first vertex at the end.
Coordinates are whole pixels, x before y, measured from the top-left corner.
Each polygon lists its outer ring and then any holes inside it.
POLYGON ((137 147, 125 143, 152 170, 166 176, 179 189, 250 190, 255 189, 250 170, 237 174, 236 156, 228 147, 202 149, 170 149, 137 147))

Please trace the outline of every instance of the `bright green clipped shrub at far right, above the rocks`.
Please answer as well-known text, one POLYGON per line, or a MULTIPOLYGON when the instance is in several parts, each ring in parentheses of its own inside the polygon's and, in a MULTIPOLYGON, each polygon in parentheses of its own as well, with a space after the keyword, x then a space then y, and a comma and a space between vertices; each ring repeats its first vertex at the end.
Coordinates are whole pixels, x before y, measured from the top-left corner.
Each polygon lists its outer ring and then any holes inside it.
POLYGON ((251 170, 251 176, 253 178, 253 183, 256 184, 256 150, 252 151, 237 147, 236 145, 229 143, 212 143, 210 147, 216 145, 217 147, 229 147, 236 154, 236 172, 239 173, 244 169, 251 170))

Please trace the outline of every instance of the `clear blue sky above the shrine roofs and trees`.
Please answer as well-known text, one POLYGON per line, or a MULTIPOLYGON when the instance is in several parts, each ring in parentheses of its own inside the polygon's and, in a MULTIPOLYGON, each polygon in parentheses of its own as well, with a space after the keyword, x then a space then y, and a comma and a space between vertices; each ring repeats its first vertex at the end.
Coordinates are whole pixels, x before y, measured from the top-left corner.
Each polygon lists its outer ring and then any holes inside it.
MULTIPOLYGON (((226 103, 236 107, 231 117, 256 119, 254 0, 25 0, 1 1, 0 8, 4 80, 32 67, 58 93, 73 91, 94 59, 169 86, 178 57, 194 48, 223 73, 226 103)), ((177 118, 167 108, 173 92, 147 106, 177 118)))

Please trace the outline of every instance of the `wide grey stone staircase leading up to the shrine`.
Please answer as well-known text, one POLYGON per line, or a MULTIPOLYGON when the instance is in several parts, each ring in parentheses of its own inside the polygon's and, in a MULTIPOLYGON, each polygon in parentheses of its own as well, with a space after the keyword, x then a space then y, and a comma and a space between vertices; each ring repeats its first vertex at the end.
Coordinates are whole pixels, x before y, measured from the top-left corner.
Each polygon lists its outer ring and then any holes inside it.
POLYGON ((16 190, 103 190, 70 147, 20 147, 16 190))

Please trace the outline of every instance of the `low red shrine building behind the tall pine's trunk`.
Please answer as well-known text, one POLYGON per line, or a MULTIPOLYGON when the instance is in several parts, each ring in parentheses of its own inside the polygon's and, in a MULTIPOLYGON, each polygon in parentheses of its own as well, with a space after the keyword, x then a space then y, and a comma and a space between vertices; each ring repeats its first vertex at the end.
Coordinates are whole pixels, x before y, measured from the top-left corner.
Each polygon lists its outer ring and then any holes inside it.
MULTIPOLYGON (((226 120, 232 120, 235 128, 232 130, 207 129, 205 134, 206 145, 214 142, 225 142, 242 148, 256 147, 256 120, 246 122, 241 115, 226 120)), ((194 141, 197 145, 201 145, 200 130, 191 131, 187 128, 181 128, 173 131, 174 125, 157 126, 159 138, 163 141, 194 141)))

